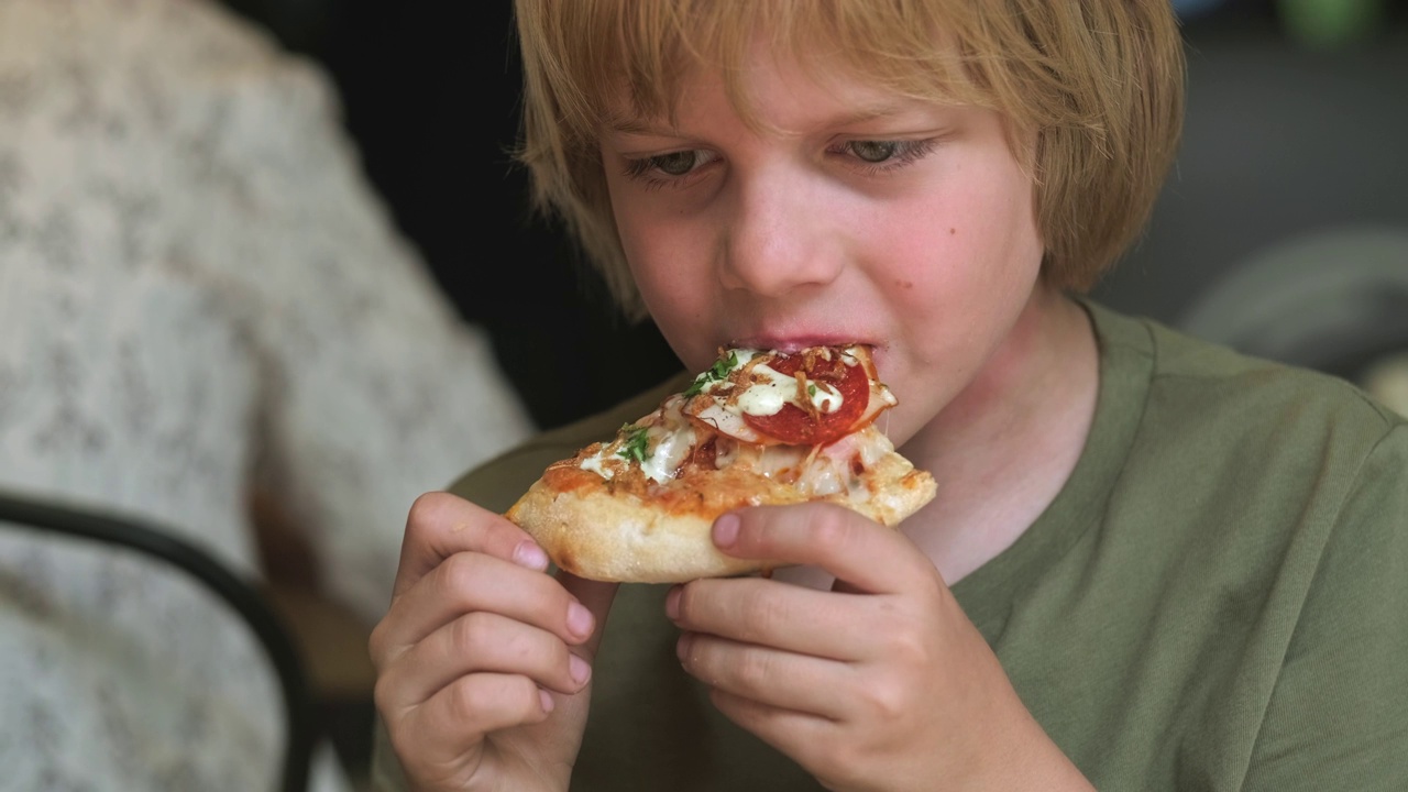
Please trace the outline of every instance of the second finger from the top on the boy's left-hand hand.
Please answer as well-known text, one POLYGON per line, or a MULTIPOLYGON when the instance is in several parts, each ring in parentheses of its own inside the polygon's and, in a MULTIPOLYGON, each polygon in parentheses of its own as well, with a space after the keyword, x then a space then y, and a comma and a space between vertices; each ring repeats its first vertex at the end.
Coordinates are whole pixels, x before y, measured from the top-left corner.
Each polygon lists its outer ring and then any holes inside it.
POLYGON ((479 552, 458 552, 391 602, 372 630, 372 661, 384 665, 442 624, 479 610, 573 644, 587 640, 593 623, 587 609, 548 575, 479 552))

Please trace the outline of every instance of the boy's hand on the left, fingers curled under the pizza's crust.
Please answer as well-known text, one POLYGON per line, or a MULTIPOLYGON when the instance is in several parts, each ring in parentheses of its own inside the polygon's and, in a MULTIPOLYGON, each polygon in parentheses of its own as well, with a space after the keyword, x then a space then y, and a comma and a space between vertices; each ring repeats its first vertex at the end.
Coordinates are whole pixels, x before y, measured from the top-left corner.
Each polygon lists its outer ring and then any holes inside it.
POLYGON ((376 707, 415 789, 566 789, 614 583, 543 574, 518 526, 453 495, 411 507, 372 631, 376 707))

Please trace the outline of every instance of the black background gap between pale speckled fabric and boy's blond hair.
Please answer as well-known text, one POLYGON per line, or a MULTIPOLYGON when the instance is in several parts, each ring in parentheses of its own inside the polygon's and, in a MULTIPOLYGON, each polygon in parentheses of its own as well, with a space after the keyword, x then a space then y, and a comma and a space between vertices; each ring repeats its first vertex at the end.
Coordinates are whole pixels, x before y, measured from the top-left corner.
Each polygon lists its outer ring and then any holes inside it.
POLYGON ((677 369, 629 327, 508 155, 520 68, 507 0, 230 0, 337 82, 366 172, 462 314, 551 427, 677 369))

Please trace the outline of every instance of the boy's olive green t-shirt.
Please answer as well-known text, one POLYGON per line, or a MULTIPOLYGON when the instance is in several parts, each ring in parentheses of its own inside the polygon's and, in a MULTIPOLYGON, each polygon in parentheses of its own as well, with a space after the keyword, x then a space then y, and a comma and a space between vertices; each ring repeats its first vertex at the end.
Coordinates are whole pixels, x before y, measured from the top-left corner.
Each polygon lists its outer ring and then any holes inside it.
MULTIPOLYGON (((1080 461, 953 586, 1017 692, 1100 789, 1408 791, 1408 424, 1345 382, 1087 309, 1080 461)), ((453 490, 505 509, 677 385, 453 490)), ((680 669, 666 589, 617 596, 573 789, 819 789, 680 669)))

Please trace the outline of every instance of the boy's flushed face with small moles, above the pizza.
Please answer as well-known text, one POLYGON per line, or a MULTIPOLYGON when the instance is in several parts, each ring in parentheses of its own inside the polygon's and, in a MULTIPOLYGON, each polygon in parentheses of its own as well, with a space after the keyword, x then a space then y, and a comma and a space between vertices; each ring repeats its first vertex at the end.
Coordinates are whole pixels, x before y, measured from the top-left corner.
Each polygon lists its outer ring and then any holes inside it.
POLYGON ((622 103, 601 140, 665 338, 694 371, 721 345, 874 344, 903 445, 1001 359, 1035 293, 1032 182, 1000 117, 759 56, 750 128, 717 75, 684 85, 676 125, 622 103))

